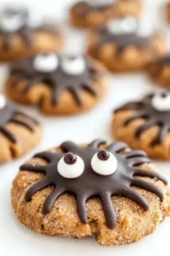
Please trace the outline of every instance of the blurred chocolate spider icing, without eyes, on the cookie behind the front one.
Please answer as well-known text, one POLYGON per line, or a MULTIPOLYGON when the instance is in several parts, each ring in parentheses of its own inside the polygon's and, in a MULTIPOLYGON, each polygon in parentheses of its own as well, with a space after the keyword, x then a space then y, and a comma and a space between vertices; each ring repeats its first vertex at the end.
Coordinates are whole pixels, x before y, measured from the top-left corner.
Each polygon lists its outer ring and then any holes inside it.
POLYGON ((73 96, 75 102, 81 106, 83 99, 81 90, 87 91, 92 96, 97 96, 97 87, 94 86, 94 81, 99 81, 102 72, 97 72, 94 64, 90 59, 85 58, 86 68, 80 75, 67 75, 62 71, 59 58, 59 66, 53 72, 38 72, 33 65, 34 59, 27 59, 14 64, 11 67, 11 75, 15 76, 13 79, 13 86, 17 86, 22 79, 27 80, 23 93, 28 93, 29 90, 38 83, 46 84, 52 90, 52 104, 57 105, 60 93, 67 90, 73 96))

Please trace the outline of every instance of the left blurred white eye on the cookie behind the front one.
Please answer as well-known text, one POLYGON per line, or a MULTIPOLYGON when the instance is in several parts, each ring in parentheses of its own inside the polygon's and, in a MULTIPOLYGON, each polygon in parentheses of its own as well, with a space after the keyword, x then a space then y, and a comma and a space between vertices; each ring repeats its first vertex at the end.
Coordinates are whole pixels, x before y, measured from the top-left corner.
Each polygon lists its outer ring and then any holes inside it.
POLYGON ((53 72, 59 66, 59 59, 55 54, 38 55, 33 65, 38 72, 53 72))

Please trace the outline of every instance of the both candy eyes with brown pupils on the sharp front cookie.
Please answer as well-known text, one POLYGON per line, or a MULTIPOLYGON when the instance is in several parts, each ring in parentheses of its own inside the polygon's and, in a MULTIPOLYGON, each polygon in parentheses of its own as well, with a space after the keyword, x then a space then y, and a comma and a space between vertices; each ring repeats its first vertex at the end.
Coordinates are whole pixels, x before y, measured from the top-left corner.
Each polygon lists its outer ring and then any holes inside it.
MULTIPOLYGON (((91 160, 91 167, 94 172, 102 176, 108 176, 117 170, 117 158, 108 151, 99 151, 94 154, 91 160)), ((72 153, 67 153, 63 156, 57 165, 57 170, 60 176, 67 179, 80 177, 85 169, 83 159, 72 153)))

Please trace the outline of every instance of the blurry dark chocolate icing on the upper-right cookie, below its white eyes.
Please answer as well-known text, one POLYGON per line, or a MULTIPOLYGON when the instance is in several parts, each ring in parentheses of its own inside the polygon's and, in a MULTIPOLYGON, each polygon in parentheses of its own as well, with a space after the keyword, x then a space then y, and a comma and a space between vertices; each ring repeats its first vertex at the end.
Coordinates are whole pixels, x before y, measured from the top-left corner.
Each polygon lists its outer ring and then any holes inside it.
POLYGON ((117 47, 117 53, 122 52, 126 47, 145 47, 150 40, 150 37, 139 36, 136 32, 125 34, 113 34, 107 27, 102 27, 98 30, 99 41, 94 49, 94 56, 99 54, 99 51, 104 44, 113 43, 117 47))

